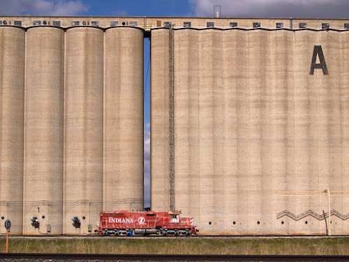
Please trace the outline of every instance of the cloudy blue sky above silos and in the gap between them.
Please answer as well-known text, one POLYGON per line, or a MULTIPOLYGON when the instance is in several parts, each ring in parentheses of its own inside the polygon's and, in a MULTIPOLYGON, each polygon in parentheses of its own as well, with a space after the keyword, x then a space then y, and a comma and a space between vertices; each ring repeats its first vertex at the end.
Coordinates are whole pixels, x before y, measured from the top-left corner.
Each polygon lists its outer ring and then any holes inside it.
MULTIPOLYGON (((0 15, 349 17, 349 0, 0 0, 0 15)), ((150 69, 144 39, 144 198, 149 198, 150 69)))

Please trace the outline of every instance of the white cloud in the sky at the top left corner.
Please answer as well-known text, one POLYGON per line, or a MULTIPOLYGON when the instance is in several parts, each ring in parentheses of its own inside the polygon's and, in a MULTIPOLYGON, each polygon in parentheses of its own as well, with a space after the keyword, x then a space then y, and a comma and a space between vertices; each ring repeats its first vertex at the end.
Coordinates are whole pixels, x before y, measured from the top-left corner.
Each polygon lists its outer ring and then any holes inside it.
POLYGON ((81 0, 0 0, 0 15, 79 15, 89 10, 81 0))

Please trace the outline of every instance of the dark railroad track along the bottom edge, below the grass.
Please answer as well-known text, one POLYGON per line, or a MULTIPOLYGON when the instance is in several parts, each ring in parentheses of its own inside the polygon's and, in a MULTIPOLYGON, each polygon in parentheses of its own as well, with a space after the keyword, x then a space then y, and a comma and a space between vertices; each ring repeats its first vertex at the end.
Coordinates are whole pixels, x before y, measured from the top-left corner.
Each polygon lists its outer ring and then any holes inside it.
POLYGON ((4 254, 0 259, 57 259, 109 261, 349 261, 349 256, 260 256, 260 255, 148 255, 148 254, 4 254))

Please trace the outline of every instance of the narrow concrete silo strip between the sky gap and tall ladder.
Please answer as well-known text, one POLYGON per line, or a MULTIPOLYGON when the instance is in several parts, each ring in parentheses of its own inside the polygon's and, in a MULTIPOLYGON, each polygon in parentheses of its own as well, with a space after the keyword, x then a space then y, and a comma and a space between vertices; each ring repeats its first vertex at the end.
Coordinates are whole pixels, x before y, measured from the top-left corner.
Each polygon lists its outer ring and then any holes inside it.
POLYGON ((151 31, 151 209, 170 208, 170 37, 151 31))

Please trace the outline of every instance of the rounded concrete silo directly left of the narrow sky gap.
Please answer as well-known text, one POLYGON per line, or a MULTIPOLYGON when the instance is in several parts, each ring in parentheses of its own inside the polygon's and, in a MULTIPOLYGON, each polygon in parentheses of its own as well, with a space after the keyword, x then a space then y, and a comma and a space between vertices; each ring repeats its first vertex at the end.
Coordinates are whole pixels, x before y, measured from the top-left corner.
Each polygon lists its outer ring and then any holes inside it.
POLYGON ((143 209, 143 31, 105 31, 105 210, 143 209))

